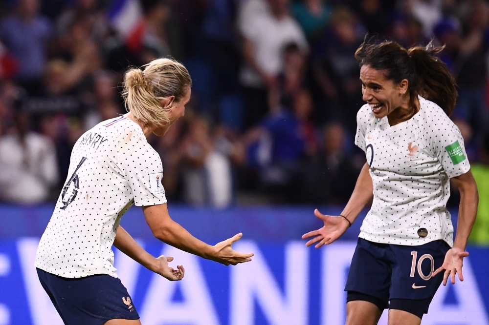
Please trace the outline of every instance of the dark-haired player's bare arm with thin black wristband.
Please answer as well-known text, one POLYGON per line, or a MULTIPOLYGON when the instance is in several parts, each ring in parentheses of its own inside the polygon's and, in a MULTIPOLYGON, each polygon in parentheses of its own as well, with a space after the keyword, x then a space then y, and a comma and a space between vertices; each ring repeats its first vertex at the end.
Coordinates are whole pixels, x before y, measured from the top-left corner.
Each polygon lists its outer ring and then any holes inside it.
POLYGON ((324 222, 324 226, 302 235, 302 239, 314 237, 306 243, 306 246, 319 242, 314 246, 319 248, 322 245, 333 243, 345 233, 350 223, 354 223, 360 211, 365 207, 365 204, 372 200, 373 196, 374 186, 370 177, 369 166, 365 163, 356 180, 352 196, 343 209, 341 216, 324 215, 317 209, 314 210, 314 214, 324 222))

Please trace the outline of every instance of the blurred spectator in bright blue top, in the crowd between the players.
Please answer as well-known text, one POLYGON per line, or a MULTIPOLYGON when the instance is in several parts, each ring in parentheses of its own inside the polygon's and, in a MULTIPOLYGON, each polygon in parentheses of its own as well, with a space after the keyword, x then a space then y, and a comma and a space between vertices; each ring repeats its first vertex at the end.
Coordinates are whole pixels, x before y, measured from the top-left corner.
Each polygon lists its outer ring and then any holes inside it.
POLYGON ((301 163, 318 148, 311 112, 311 95, 303 89, 292 112, 279 107, 246 135, 248 164, 258 168, 262 189, 278 202, 300 200, 301 163))

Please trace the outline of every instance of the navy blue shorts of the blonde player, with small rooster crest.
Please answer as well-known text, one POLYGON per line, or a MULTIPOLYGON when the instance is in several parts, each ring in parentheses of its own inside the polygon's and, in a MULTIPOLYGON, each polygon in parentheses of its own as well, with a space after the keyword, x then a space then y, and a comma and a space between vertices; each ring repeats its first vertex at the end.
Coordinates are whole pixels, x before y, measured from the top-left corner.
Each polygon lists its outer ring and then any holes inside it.
POLYGON ((102 325, 115 318, 139 319, 126 288, 107 274, 63 278, 37 269, 39 280, 65 325, 102 325))

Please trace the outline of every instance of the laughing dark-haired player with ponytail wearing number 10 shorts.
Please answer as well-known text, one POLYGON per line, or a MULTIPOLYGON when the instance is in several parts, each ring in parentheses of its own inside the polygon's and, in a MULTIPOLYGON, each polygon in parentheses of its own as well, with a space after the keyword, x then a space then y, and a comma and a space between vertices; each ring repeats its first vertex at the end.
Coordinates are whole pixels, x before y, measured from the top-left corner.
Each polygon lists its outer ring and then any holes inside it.
POLYGON ((390 325, 419 325, 448 276, 463 281, 462 260, 474 224, 478 194, 459 129, 448 118, 455 81, 429 44, 364 42, 355 53, 363 100, 355 143, 367 163, 339 216, 315 215, 324 226, 303 238, 331 244, 372 198, 345 287, 347 325, 377 324, 389 308, 390 325), (457 235, 446 202, 449 180, 461 202, 457 235), (444 275, 439 274, 445 270, 444 275))

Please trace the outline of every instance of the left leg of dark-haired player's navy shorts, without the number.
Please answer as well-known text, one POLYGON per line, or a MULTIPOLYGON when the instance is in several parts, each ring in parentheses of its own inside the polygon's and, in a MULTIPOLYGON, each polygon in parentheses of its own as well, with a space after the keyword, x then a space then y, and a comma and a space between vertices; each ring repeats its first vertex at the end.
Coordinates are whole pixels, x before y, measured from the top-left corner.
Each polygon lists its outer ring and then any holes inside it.
POLYGON ((345 291, 349 293, 357 292, 376 298, 375 302, 370 302, 378 305, 380 311, 388 306, 391 285, 392 270, 386 259, 387 248, 387 244, 359 238, 345 285, 345 291))

